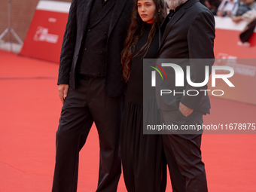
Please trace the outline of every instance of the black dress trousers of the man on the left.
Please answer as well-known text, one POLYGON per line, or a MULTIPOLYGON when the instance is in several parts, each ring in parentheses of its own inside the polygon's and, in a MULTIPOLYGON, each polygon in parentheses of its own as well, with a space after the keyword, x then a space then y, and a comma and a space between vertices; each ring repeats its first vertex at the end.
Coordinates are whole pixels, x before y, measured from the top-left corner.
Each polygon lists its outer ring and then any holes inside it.
POLYGON ((100 160, 97 192, 113 192, 121 173, 120 120, 123 96, 105 92, 105 78, 78 78, 76 89, 69 87, 56 132, 56 166, 53 192, 75 192, 78 184, 79 151, 93 121, 99 133, 100 160))

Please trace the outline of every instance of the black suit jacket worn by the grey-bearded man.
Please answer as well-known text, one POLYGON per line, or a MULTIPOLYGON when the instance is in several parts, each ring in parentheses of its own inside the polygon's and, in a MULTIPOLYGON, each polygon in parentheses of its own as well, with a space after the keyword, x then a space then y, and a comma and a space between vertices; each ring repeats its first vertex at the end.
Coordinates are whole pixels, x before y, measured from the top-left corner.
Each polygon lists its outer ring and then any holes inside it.
MULTIPOLYGON (((207 65, 211 69, 215 58, 213 52, 215 19, 211 11, 199 0, 189 0, 173 15, 164 32, 163 27, 160 26, 161 33, 163 37, 160 37, 160 49, 158 51, 160 59, 212 59, 210 62, 191 60, 188 64, 187 62, 179 63, 184 71, 184 77, 186 77, 186 66, 190 65, 191 81, 194 83, 203 82, 205 66, 207 65)), ((163 81, 160 87, 168 87, 169 90, 176 91, 207 90, 207 86, 191 87, 187 81, 184 81, 184 87, 175 87, 174 82, 170 83, 170 81, 175 81, 174 70, 171 73, 172 77, 168 77, 169 82, 163 81)), ((181 94, 157 96, 157 102, 163 110, 176 110, 179 102, 181 102, 188 108, 209 113, 209 97, 208 95, 204 96, 204 94, 200 91, 198 96, 187 96, 187 94, 185 96, 181 96, 181 94)))

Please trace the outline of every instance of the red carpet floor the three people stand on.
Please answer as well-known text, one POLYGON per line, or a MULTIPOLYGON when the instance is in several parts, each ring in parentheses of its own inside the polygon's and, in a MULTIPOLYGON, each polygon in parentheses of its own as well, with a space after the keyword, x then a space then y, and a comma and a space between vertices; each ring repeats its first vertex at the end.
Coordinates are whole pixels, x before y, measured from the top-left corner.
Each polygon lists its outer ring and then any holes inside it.
MULTIPOLYGON (((0 50, 0 191, 50 191, 61 102, 58 65, 0 50)), ((256 123, 256 106, 211 98, 205 123, 256 123)), ((255 130, 256 132, 256 130, 255 130)), ((204 135, 211 192, 255 191, 256 135, 204 135)), ((99 142, 93 126, 81 151, 78 192, 95 191, 99 142)), ((118 192, 126 191, 123 176, 118 192)), ((172 191, 170 182, 166 191, 172 191)))

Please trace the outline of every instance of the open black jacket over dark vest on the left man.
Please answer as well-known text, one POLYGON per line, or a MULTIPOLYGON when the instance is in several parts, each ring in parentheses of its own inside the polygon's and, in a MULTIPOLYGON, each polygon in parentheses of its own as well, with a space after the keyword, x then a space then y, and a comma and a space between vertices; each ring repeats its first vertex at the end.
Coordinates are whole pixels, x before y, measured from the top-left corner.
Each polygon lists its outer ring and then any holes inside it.
MULTIPOLYGON (((69 84, 75 89, 75 67, 81 54, 86 36, 88 18, 93 0, 72 0, 68 23, 62 42, 59 60, 58 84, 69 84)), ((106 53, 105 86, 108 95, 121 96, 125 93, 120 52, 123 49, 127 28, 133 9, 132 0, 117 0, 108 31, 106 53)))

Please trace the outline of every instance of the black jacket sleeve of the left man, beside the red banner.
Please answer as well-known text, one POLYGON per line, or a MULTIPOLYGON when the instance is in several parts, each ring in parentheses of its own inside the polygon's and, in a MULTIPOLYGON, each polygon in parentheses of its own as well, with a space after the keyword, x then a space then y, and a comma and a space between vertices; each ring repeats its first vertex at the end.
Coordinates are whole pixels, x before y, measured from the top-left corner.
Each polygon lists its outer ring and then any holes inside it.
POLYGON ((72 67, 77 34, 77 4, 78 0, 72 0, 71 7, 69 9, 68 23, 66 24, 66 31, 62 41, 62 49, 59 59, 58 84, 69 84, 69 73, 72 67))

